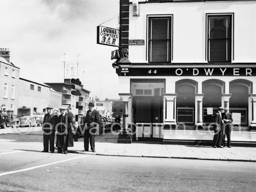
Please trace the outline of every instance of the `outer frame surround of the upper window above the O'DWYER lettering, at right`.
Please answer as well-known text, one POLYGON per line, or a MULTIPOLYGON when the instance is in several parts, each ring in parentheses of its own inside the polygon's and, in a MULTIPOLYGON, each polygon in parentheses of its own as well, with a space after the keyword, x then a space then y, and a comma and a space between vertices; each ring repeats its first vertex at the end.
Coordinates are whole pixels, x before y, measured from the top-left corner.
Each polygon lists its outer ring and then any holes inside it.
POLYGON ((205 16, 205 61, 207 63, 232 63, 234 61, 234 13, 206 13, 205 16), (230 61, 209 61, 208 60, 208 18, 209 16, 230 16, 230 23, 231 23, 231 37, 230 37, 230 61))

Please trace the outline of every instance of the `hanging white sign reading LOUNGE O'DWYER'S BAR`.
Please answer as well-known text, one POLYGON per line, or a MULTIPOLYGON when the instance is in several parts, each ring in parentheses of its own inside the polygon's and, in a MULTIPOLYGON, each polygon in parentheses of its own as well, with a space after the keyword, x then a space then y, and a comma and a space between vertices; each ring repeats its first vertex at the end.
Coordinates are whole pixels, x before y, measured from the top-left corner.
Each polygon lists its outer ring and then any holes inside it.
POLYGON ((97 44, 107 46, 119 45, 119 30, 106 26, 97 26, 97 44))

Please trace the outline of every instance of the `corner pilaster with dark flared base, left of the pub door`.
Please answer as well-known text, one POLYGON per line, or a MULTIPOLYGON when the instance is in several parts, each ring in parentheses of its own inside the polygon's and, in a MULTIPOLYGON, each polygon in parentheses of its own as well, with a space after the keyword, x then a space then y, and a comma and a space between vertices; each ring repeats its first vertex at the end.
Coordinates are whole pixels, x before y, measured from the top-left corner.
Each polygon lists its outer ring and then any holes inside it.
POLYGON ((128 131, 128 99, 132 96, 131 93, 119 93, 123 100, 123 127, 118 136, 117 143, 132 143, 130 131, 128 131))

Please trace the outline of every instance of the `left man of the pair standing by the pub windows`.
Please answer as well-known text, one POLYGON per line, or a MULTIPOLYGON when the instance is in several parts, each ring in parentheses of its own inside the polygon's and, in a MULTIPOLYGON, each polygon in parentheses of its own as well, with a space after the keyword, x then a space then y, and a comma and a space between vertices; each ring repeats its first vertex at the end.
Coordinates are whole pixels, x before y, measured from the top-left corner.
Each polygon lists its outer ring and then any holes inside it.
POLYGON ((213 142, 212 142, 212 147, 214 148, 223 148, 221 146, 222 144, 222 112, 223 112, 223 107, 219 107, 218 113, 215 113, 214 115, 214 125, 213 125, 213 130, 214 130, 214 137, 213 137, 213 142))

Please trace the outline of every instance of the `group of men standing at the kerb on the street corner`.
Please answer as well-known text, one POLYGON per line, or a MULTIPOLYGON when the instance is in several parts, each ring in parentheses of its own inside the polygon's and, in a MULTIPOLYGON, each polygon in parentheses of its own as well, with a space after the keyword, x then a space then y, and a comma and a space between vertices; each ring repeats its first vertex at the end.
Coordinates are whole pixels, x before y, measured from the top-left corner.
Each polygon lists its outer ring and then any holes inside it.
MULTIPOLYGON (((84 150, 89 150, 89 141, 92 152, 95 152, 95 140, 94 135, 96 131, 96 126, 99 125, 101 118, 97 110, 94 109, 94 104, 88 104, 89 110, 87 111, 84 126, 84 150)), ((43 131, 43 145, 44 149, 42 152, 54 153, 54 138, 56 135, 56 147, 58 153, 64 152, 67 154, 67 147, 74 146, 74 139, 72 133, 73 113, 71 112, 71 107, 60 108, 60 115, 58 116, 54 112, 53 107, 47 107, 47 114, 44 116, 42 131, 43 131)))

